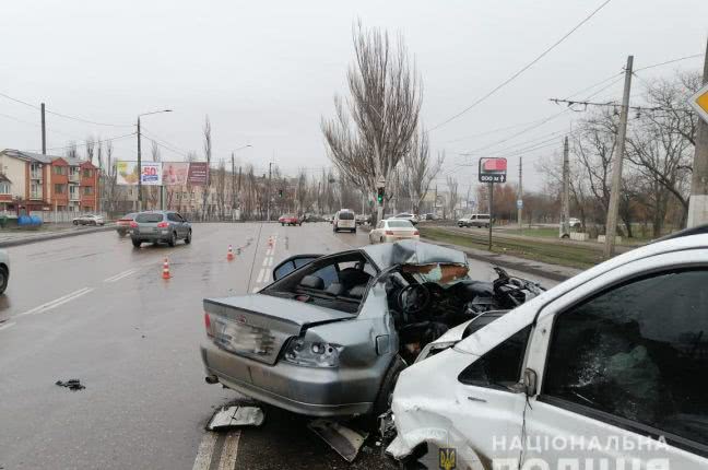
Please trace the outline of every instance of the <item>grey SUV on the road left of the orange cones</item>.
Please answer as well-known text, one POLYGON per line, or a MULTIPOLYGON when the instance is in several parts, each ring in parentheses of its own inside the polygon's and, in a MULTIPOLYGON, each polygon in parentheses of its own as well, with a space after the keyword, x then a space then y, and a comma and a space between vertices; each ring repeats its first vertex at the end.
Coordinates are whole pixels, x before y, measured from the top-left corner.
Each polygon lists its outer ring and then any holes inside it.
POLYGON ((177 212, 139 212, 130 223, 130 238, 135 248, 143 243, 166 243, 175 246, 178 239, 191 243, 191 224, 177 212))

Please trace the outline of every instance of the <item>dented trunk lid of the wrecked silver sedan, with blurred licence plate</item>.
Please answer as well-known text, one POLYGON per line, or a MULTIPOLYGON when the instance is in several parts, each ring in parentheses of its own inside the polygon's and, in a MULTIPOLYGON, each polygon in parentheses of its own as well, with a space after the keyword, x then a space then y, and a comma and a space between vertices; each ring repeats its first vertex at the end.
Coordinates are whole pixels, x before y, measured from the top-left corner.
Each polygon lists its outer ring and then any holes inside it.
POLYGON ((216 345, 271 365, 287 340, 308 327, 354 318, 344 312, 264 294, 204 298, 204 312, 216 345))

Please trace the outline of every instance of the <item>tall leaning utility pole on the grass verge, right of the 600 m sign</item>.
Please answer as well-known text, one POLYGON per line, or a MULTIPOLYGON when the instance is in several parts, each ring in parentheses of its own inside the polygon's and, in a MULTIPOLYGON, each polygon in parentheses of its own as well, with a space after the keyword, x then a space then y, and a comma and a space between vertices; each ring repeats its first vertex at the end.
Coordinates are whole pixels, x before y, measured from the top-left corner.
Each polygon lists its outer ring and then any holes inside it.
POLYGON ((629 92, 632 91, 632 64, 634 56, 627 57, 625 68, 625 89, 622 96, 622 111, 620 113, 620 129, 617 130, 617 154, 612 162, 612 189, 610 190, 610 208, 605 226, 604 257, 614 255, 615 234, 617 232, 617 214, 620 212, 620 191, 622 190, 622 163, 627 137, 627 114, 629 111, 629 92))

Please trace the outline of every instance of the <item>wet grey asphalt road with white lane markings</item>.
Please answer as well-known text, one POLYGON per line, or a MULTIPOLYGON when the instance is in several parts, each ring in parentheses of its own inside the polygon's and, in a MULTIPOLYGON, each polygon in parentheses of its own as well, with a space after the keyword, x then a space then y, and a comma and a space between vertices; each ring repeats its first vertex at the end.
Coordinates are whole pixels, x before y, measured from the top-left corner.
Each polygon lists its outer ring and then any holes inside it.
MULTIPOLYGON (((133 249, 114 232, 9 248, 0 469, 391 468, 373 439, 349 465, 305 420, 274 409, 260 428, 204 431, 214 409, 238 397, 203 380, 202 298, 263 286, 287 256, 366 243, 366 233, 335 235, 329 224, 253 223, 196 224, 192 244, 175 248, 133 249), (241 248, 231 262, 229 244, 241 248), (86 388, 55 385, 69 378, 86 388)), ((472 261, 472 271, 494 278, 484 263, 472 261)))

